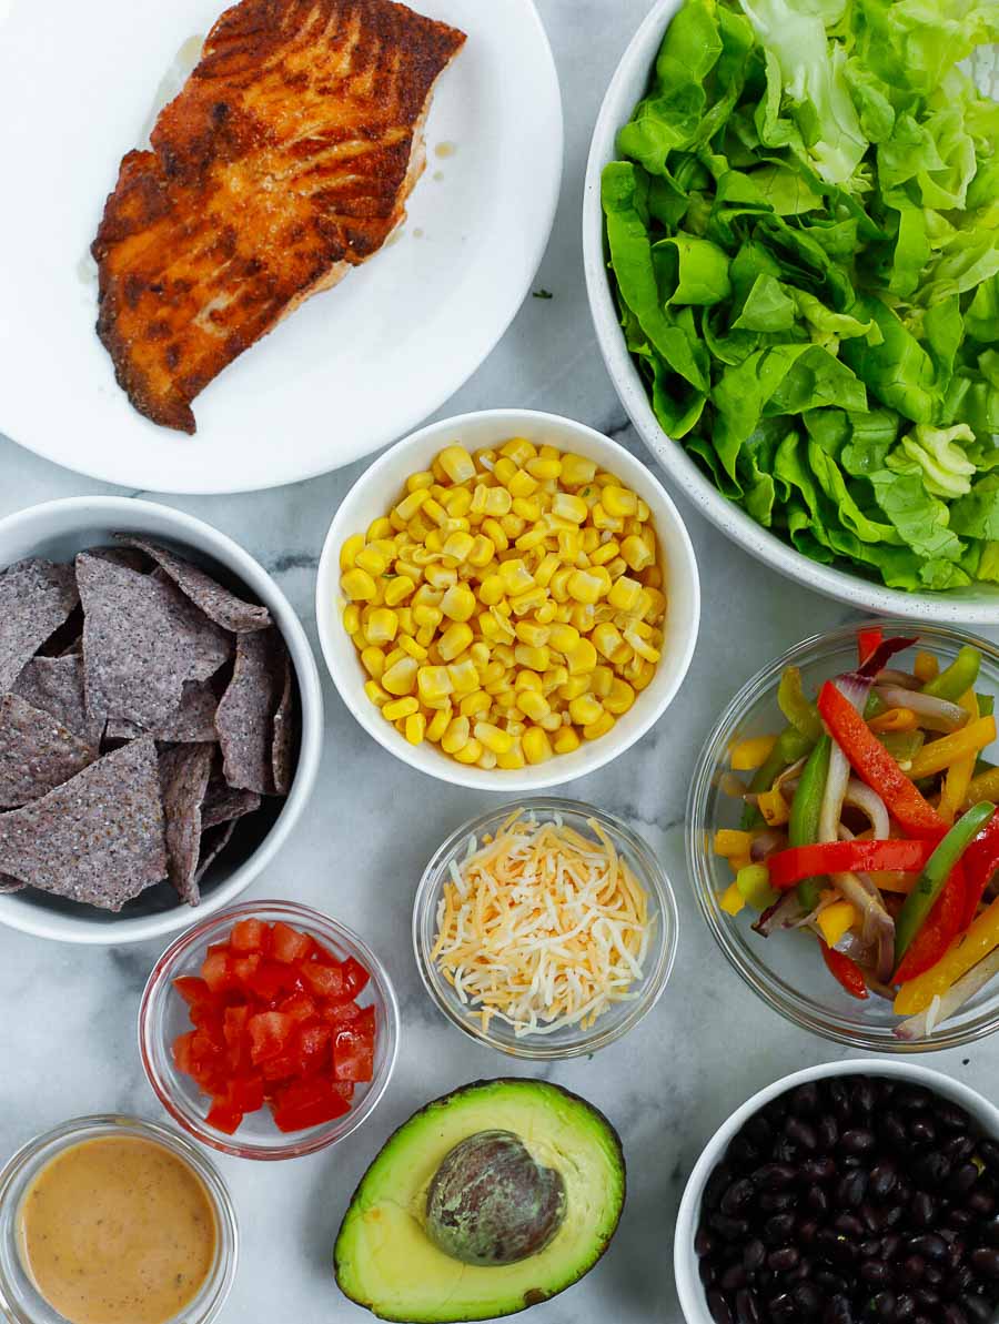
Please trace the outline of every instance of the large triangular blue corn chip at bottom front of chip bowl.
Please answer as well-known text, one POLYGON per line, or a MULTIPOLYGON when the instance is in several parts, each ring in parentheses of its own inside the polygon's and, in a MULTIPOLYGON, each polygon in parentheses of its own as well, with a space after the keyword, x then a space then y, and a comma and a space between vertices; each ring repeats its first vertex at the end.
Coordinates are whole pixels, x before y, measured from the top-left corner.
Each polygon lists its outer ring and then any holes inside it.
POLYGON ((0 874, 119 911, 167 876, 164 826, 155 741, 132 740, 0 814, 0 874))

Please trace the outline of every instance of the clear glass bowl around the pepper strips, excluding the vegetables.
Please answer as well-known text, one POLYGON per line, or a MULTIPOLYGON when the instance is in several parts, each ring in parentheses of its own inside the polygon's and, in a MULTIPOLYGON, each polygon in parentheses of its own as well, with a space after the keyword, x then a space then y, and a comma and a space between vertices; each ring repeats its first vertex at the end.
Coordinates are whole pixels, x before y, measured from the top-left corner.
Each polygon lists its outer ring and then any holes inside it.
MULTIPOLYGON (((913 621, 870 620, 843 626, 829 634, 803 639, 739 690, 721 715, 694 769, 686 806, 686 861, 701 914, 729 963, 768 1006, 795 1025, 833 1043, 874 1053, 935 1053, 971 1043, 999 1029, 999 980, 986 985, 955 1016, 943 1021, 925 1039, 904 1041, 894 1035, 902 1018, 886 1000, 851 997, 827 972, 811 935, 794 932, 761 937, 750 928, 755 911, 727 915, 718 904, 731 883, 726 859, 715 855, 711 839, 718 828, 737 828, 742 801, 726 794, 729 749, 749 736, 774 733, 786 719, 776 703, 780 673, 786 666, 802 670, 807 695, 857 665, 857 630, 881 629, 885 638, 918 636, 916 647, 934 653, 941 667, 949 665, 965 643, 982 653, 982 671, 975 688, 999 694, 999 649, 987 639, 943 625, 913 621)), ((896 654, 889 666, 906 670, 914 650, 896 654)))

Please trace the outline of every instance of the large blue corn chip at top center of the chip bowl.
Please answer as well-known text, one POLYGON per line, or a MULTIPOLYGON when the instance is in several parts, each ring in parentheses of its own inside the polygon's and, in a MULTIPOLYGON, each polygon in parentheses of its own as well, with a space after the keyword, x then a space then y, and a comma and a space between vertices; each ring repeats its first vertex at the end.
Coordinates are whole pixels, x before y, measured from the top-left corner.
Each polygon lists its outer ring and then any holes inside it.
POLYGON ((232 637, 172 583, 81 552, 87 711, 155 731, 178 710, 187 681, 207 681, 232 637))

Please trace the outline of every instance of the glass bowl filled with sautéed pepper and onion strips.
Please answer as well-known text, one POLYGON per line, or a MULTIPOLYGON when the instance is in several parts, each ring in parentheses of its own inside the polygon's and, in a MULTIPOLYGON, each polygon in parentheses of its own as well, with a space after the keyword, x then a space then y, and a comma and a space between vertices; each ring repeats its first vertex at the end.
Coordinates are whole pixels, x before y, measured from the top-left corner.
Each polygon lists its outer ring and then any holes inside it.
POLYGON ((999 1029, 999 649, 877 620, 814 636, 733 698, 686 816, 730 964, 852 1049, 999 1029))

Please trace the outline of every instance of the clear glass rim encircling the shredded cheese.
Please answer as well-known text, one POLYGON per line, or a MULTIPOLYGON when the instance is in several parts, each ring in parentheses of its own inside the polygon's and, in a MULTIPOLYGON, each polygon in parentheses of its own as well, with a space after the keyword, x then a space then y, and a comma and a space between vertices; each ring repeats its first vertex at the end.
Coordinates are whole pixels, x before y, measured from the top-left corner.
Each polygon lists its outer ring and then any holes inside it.
MULTIPOLYGON (((633 1030, 648 1016, 648 1013, 652 1012, 658 1000, 662 997, 666 984, 669 982, 669 977, 673 973, 673 967, 676 965, 677 952, 680 948, 680 911, 673 884, 658 861, 658 857, 645 838, 635 831, 635 829, 624 822, 624 820, 609 813, 607 809, 600 809, 583 800, 570 800, 563 796, 541 794, 530 796, 515 802, 511 801, 506 805, 493 805, 489 809, 484 809, 480 814, 476 814, 474 818, 469 818, 444 838, 428 861, 416 888, 412 912, 412 944, 416 968, 420 972, 420 980, 423 981, 423 986, 428 997, 441 1016, 461 1030, 462 1034, 468 1035, 468 1038, 473 1039, 476 1043, 486 1045, 497 1053, 505 1053, 507 1057, 517 1058, 522 1062, 559 1062, 568 1058, 584 1057, 615 1043, 617 1039, 633 1030), (591 1030, 586 1038, 582 1038, 578 1043, 570 1046, 559 1046, 543 1037, 537 1039, 525 1038, 515 1042, 507 1042, 497 1038, 488 1030, 484 1031, 481 1027, 477 1027, 468 1017, 460 1016, 454 1006, 452 1006, 452 1004, 441 996, 441 990, 431 969, 429 953, 425 951, 423 943, 423 922, 435 906, 445 862, 454 854, 466 837, 472 834, 478 835, 490 825, 496 825, 497 822, 502 822, 509 818, 514 810, 521 810, 523 814, 531 812, 542 814, 572 813, 586 818, 595 818, 608 830, 608 834, 612 833, 616 838, 623 841, 631 854, 635 855, 641 863, 647 874, 647 879, 643 879, 643 882, 648 882, 651 886, 656 896, 660 914, 662 915, 660 932, 656 936, 655 967, 647 976, 648 982, 644 992, 635 1002, 632 1002, 632 1010, 629 1014, 625 1016, 625 1018, 613 1029, 608 1027, 600 1030, 600 1022, 598 1019, 594 1030, 591 1030)), ((649 957, 652 957, 652 952, 649 953, 649 957)), ((649 964, 653 963, 649 961, 649 964)))

